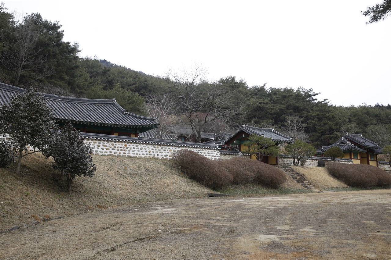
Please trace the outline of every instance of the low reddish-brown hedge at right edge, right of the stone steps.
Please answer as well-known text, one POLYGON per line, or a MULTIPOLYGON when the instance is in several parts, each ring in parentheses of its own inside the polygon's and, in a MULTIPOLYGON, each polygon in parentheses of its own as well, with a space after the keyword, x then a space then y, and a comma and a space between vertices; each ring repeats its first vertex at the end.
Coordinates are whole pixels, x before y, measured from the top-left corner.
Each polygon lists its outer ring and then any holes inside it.
POLYGON ((378 167, 368 164, 328 162, 326 168, 330 175, 352 187, 389 187, 391 185, 391 175, 378 167))

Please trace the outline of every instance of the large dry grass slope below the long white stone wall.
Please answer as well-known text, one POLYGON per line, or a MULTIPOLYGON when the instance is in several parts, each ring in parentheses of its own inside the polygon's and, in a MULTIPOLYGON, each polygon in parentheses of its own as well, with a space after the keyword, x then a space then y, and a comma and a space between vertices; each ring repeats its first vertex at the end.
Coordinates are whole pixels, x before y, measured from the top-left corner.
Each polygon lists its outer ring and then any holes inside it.
POLYGON ((65 179, 40 153, 23 158, 22 176, 15 174, 15 165, 0 169, 0 231, 115 205, 194 198, 211 192, 181 176, 168 160, 104 156, 93 160, 95 176, 75 178, 70 194, 65 179))

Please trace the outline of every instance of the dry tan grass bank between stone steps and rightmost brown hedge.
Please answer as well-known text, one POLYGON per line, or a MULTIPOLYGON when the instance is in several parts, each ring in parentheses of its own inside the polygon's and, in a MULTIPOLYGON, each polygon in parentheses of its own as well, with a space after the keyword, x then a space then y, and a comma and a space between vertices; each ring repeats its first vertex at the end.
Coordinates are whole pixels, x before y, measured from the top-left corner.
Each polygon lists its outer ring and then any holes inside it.
POLYGON ((316 189, 349 187, 329 175, 325 167, 292 166, 292 168, 301 173, 312 185, 315 185, 316 189))

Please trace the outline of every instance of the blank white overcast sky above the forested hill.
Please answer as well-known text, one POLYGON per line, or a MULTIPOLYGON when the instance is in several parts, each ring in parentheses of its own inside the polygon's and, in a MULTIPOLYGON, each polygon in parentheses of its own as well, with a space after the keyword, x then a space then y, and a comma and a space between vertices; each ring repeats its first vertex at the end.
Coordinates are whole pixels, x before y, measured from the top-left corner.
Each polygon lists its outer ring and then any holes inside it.
POLYGON ((208 79, 304 87, 333 105, 391 104, 391 17, 366 24, 383 0, 2 0, 63 25, 81 56, 150 75, 203 63, 208 79))

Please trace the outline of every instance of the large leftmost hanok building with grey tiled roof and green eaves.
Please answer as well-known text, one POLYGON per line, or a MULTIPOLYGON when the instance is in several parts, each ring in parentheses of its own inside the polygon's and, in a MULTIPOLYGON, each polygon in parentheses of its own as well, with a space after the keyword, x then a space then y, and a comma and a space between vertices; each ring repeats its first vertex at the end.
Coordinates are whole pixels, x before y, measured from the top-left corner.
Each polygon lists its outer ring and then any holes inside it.
MULTIPOLYGON (((9 103, 11 97, 25 89, 0 83, 0 104, 9 103)), ((70 122, 81 132, 138 137, 139 133, 156 128, 156 118, 147 118, 127 112, 115 98, 70 98, 43 94, 47 105, 53 109, 59 126, 70 122)))

